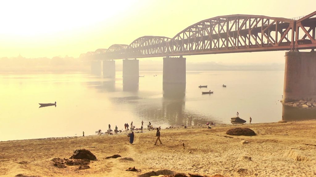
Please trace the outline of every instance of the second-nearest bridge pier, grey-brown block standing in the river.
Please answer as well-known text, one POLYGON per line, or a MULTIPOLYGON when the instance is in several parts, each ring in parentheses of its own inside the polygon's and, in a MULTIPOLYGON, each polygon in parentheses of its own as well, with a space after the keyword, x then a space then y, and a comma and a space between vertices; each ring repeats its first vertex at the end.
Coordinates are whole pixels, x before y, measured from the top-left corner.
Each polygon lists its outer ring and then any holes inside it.
POLYGON ((181 97, 185 95, 185 60, 180 56, 163 58, 162 89, 164 96, 181 97))

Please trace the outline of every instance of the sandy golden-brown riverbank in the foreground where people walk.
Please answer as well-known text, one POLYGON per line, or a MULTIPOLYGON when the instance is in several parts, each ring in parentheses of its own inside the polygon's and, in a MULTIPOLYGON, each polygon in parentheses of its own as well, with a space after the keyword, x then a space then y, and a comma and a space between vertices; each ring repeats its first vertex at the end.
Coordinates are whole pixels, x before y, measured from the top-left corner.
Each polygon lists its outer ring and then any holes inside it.
POLYGON ((134 145, 128 140, 121 134, 0 142, 0 176, 137 176, 159 169, 226 177, 316 175, 316 120, 163 129, 159 146, 153 145, 155 131, 136 133, 134 145), (251 128, 257 135, 226 134, 236 127, 251 128), (53 166, 52 158, 69 158, 73 150, 82 148, 98 159, 89 164, 91 168, 53 166), (114 154, 134 161, 105 159, 114 154), (125 171, 134 166, 142 172, 125 171))

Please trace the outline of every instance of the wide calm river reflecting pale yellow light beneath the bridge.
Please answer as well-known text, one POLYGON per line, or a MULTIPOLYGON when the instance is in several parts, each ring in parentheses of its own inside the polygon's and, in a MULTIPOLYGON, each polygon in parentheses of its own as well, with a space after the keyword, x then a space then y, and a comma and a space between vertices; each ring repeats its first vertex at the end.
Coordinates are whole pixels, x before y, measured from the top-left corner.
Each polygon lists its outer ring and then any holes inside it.
POLYGON ((188 71, 185 94, 167 86, 164 93, 161 71, 140 75, 138 86, 123 84, 119 71, 115 80, 85 73, 0 75, 0 141, 91 135, 131 121, 137 128, 141 121, 161 128, 230 123, 237 111, 247 123, 249 117, 252 123, 282 119, 284 71, 188 71), (214 94, 201 94, 209 90, 214 94), (55 101, 56 107, 39 108, 55 101))

